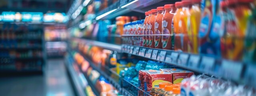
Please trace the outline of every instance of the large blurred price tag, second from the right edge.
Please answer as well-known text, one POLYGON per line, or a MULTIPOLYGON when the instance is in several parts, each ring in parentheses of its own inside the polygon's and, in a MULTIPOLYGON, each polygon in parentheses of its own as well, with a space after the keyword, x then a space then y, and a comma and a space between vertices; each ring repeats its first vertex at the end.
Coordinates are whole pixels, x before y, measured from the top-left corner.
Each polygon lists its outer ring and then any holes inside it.
POLYGON ((221 69, 225 78, 238 81, 241 78, 243 64, 241 62, 222 60, 221 69))

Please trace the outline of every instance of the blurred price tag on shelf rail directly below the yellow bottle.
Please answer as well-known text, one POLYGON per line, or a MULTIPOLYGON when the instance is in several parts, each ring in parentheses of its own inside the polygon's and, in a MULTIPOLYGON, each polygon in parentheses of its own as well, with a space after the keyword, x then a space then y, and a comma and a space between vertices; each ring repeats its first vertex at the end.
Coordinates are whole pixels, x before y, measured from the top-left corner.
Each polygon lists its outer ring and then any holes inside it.
POLYGON ((190 55, 190 58, 188 60, 188 66, 191 68, 198 68, 200 56, 198 55, 190 55))

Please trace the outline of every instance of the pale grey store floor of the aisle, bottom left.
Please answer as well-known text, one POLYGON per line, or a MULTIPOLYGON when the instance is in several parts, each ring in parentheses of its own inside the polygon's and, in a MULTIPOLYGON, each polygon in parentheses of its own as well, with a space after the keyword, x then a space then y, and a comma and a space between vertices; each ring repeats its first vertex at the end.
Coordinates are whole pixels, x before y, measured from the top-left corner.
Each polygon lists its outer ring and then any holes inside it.
POLYGON ((0 78, 1 96, 74 96, 64 60, 48 60, 44 75, 0 78))

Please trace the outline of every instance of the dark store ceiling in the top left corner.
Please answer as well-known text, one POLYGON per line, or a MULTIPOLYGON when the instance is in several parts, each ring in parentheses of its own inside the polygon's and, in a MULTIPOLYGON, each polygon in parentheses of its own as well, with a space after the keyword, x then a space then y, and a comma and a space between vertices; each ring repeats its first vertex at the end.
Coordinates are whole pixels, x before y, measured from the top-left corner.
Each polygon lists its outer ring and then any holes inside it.
POLYGON ((0 13, 14 12, 67 12, 73 0, 0 0, 0 13))

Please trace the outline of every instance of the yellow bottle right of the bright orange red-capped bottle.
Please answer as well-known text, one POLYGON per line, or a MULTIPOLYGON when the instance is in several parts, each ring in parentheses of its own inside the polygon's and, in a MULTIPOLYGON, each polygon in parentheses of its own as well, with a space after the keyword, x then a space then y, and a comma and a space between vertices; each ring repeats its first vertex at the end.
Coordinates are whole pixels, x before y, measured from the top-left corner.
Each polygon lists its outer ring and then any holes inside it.
MULTIPOLYGON (((190 24, 188 25, 188 36, 192 44, 188 45, 192 53, 198 53, 198 32, 201 20, 201 0, 192 0, 192 8, 190 8, 190 24)), ((190 50, 189 50, 190 51, 190 50)))

